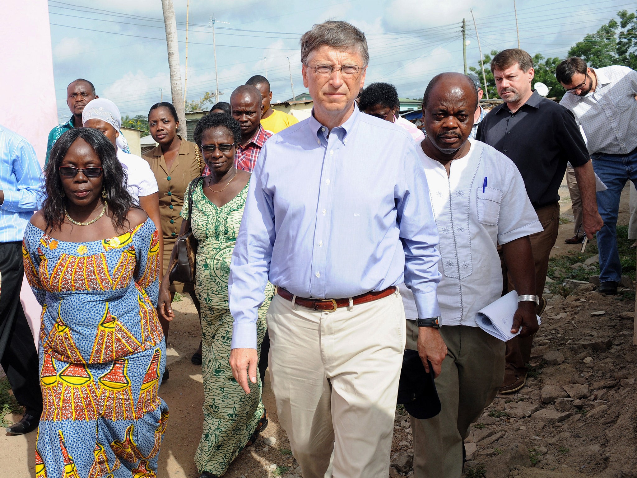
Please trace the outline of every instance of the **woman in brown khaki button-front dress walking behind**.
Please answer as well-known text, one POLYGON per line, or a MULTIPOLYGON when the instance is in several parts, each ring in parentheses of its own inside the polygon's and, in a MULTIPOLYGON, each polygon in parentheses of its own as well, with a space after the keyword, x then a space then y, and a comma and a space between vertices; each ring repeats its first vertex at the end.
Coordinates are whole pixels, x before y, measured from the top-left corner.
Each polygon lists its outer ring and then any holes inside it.
MULTIPOLYGON (((182 227, 180 212, 183 207, 183 195, 194 178, 201 176, 204 162, 195 143, 191 143, 177 134, 179 121, 175 106, 166 101, 156 103, 148 112, 150 134, 159 146, 148 152, 143 158, 150 164, 159 187, 159 212, 161 214, 162 233, 164 235, 164 268, 162 277, 169 266, 170 254, 182 227)), ((192 284, 173 282, 170 286, 171 300, 175 293, 190 294, 199 313, 199 301, 194 294, 192 284)), ((170 322, 160 318, 164 336, 168 342, 170 322)), ((201 364, 201 344, 192 356, 192 362, 201 364)), ((164 381, 168 379, 168 370, 164 381)))

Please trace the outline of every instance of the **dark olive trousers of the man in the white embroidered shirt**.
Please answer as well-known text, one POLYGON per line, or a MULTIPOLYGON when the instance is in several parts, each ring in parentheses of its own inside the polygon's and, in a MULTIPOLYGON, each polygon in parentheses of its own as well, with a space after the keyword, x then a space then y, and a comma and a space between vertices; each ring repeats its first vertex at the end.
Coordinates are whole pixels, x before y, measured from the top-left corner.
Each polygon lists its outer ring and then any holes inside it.
MULTIPOLYGON (((495 398, 505 372, 505 342, 478 327, 440 328, 447 356, 436 379, 440 414, 427 420, 410 416, 415 478, 460 477, 462 442, 469 425, 495 398)), ((407 321, 407 348, 417 350, 418 326, 407 321)))

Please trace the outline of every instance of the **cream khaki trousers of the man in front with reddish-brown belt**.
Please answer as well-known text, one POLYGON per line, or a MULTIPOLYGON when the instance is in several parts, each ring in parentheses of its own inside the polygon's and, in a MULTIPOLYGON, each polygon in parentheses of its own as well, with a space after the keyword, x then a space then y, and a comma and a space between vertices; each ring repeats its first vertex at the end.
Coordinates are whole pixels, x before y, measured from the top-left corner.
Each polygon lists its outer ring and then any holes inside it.
POLYGON ((275 295, 266 319, 276 411, 303 477, 386 478, 405 342, 400 295, 335 312, 275 295))

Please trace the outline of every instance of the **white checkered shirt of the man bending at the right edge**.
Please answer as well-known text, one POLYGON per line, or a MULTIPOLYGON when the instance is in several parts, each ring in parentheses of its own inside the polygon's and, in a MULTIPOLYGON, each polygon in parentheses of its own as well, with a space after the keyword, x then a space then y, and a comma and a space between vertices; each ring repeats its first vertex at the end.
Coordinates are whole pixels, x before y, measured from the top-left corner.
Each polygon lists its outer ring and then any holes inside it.
POLYGON ((582 126, 590 154, 628 154, 637 147, 637 71, 627 66, 593 70, 598 85, 586 96, 560 101, 582 126))

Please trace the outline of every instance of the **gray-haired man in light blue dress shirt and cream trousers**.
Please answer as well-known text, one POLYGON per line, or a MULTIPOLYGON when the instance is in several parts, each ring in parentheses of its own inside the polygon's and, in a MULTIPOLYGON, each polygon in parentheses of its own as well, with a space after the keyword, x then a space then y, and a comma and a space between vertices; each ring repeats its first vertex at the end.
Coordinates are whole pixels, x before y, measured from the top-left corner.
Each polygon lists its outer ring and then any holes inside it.
MULTIPOLYGON (((369 60, 346 22, 301 38, 309 119, 272 136, 252 173, 231 262, 231 365, 256 382, 257 308, 268 279, 269 370, 278 418, 303 476, 387 476, 405 320, 440 315, 438 231, 411 136, 355 105, 369 60)), ((423 328, 435 373, 447 349, 423 328)))

